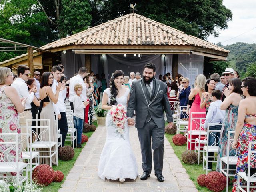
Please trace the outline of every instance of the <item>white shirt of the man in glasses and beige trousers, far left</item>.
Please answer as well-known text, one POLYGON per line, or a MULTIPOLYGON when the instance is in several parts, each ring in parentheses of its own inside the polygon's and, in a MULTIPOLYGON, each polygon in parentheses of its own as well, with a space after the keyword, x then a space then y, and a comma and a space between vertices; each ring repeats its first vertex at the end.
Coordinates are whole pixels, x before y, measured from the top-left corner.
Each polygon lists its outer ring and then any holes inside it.
POLYGON ((31 92, 29 94, 28 86, 27 86, 26 82, 22 78, 18 77, 11 84, 11 86, 17 90, 20 98, 23 98, 23 97, 27 98, 26 103, 25 103, 25 109, 31 109, 30 103, 33 101, 35 94, 34 94, 34 92, 31 92))

